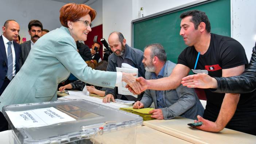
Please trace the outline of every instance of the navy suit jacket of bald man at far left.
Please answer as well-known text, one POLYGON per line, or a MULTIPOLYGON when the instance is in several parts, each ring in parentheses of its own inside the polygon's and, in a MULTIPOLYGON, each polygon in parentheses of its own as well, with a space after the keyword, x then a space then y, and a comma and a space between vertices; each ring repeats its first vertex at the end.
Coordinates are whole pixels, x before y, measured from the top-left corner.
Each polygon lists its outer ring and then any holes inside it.
MULTIPOLYGON (((20 45, 13 41, 14 51, 15 51, 15 69, 16 74, 20 70, 19 58, 20 58, 20 45)), ((13 54, 13 53, 12 53, 13 54)), ((7 55, 4 46, 3 36, 0 36, 0 87, 3 85, 4 78, 7 74, 8 64, 7 55)))

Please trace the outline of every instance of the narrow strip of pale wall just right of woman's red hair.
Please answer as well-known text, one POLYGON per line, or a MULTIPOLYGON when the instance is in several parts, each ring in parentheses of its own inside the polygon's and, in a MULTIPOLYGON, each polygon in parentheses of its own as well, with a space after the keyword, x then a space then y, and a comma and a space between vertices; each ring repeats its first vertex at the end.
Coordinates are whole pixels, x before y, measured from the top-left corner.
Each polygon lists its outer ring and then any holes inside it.
MULTIPOLYGON (((90 1, 89 1, 90 2, 90 1)), ((97 15, 95 19, 93 20, 92 27, 98 26, 102 24, 102 0, 95 0, 93 3, 85 3, 86 5, 89 5, 91 8, 93 8, 97 15)))

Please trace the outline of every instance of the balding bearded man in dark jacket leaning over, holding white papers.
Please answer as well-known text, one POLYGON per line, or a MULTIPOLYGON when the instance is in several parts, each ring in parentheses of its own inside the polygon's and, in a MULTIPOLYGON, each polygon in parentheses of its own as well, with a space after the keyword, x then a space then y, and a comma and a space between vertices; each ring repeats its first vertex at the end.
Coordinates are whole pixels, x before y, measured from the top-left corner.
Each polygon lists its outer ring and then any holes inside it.
MULTIPOLYGON (((116 71, 116 67, 121 67, 122 63, 128 63, 138 69, 139 77, 145 77, 145 68, 142 63, 143 52, 141 50, 128 46, 121 32, 112 32, 108 37, 108 43, 113 53, 108 58, 106 71, 116 71)), ((103 102, 110 102, 110 100, 115 102, 114 96, 121 100, 137 101, 141 99, 143 93, 138 95, 138 98, 135 98, 118 94, 117 87, 115 89, 107 88, 103 102)))

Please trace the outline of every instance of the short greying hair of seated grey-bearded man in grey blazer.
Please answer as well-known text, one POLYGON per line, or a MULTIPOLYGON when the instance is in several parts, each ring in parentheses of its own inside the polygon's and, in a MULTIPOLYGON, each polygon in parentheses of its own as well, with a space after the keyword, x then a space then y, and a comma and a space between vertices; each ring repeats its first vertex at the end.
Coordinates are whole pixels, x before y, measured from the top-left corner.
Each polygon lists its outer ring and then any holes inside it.
POLYGON ((151 59, 156 56, 162 62, 167 61, 166 52, 161 44, 159 43, 149 44, 144 48, 144 50, 146 50, 146 48, 150 48, 151 50, 151 54, 150 54, 151 59))

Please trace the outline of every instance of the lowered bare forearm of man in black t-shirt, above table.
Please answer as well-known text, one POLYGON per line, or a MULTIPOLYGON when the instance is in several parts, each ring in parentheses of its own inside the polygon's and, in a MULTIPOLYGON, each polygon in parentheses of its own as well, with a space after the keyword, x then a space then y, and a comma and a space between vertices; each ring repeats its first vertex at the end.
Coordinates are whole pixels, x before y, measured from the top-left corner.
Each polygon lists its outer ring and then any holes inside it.
POLYGON ((220 113, 216 120, 216 125, 220 129, 220 131, 226 127, 228 122, 233 117, 236 112, 237 103, 239 101, 240 94, 230 94, 226 93, 223 99, 220 113))

